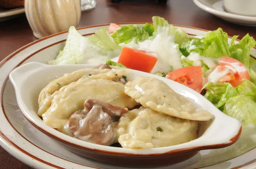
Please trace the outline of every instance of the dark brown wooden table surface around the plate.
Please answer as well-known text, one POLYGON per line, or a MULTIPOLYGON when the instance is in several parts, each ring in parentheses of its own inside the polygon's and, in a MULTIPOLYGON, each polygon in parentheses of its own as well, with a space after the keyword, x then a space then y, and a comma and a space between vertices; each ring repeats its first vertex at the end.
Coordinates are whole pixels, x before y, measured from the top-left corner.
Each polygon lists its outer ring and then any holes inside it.
MULTIPOLYGON (((83 11, 79 27, 104 23, 151 22, 152 16, 164 17, 170 24, 185 25, 207 30, 223 28, 228 35, 243 37, 249 33, 256 38, 256 28, 235 25, 209 14, 192 0, 168 0, 167 4, 154 0, 122 0, 119 4, 110 0, 97 0, 97 7, 83 11)), ((0 22, 0 61, 18 48, 35 41, 25 14, 0 22)), ((1 169, 30 169, 0 147, 1 169)))

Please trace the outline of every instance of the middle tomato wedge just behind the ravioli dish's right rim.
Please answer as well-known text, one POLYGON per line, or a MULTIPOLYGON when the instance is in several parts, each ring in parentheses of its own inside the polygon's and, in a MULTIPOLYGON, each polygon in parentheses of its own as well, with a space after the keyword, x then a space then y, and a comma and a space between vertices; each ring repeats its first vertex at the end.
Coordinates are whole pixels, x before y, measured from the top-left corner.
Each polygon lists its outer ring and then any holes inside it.
POLYGON ((203 87, 203 70, 201 66, 192 66, 174 70, 168 73, 166 78, 201 93, 203 87))

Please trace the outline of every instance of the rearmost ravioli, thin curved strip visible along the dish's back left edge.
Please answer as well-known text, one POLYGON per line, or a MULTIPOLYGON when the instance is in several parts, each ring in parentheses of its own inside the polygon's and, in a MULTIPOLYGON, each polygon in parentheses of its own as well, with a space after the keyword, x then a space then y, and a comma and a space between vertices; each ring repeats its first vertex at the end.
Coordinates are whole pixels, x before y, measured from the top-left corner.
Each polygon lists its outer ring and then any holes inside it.
MULTIPOLYGON (((78 81, 81 77, 86 77, 89 79, 114 79, 122 77, 125 74, 123 69, 94 69, 94 68, 85 68, 81 70, 74 71, 72 73, 67 73, 64 76, 53 80, 50 82, 44 89, 41 91, 38 104, 40 107, 41 101, 47 98, 47 96, 52 95, 55 91, 59 90, 65 85, 69 85, 72 82, 78 81)), ((38 113, 40 115, 42 113, 38 113)))

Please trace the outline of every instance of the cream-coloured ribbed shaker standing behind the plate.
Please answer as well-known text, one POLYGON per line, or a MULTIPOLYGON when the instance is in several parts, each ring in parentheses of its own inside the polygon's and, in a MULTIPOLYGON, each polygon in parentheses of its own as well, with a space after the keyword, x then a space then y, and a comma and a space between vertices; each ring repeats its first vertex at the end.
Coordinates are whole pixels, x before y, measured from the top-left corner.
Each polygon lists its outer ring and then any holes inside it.
POLYGON ((25 13, 38 39, 77 27, 81 18, 80 0, 25 0, 25 13))

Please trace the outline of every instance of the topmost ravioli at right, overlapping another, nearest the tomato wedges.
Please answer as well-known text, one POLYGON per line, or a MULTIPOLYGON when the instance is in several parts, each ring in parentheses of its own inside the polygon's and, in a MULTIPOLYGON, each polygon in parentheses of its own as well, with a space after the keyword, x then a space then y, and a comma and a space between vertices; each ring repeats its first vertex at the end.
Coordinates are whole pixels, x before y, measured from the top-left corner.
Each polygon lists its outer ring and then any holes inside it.
POLYGON ((195 109, 185 97, 172 90, 165 82, 154 77, 137 77, 125 85, 125 93, 144 107, 178 118, 207 121, 213 115, 195 109))

